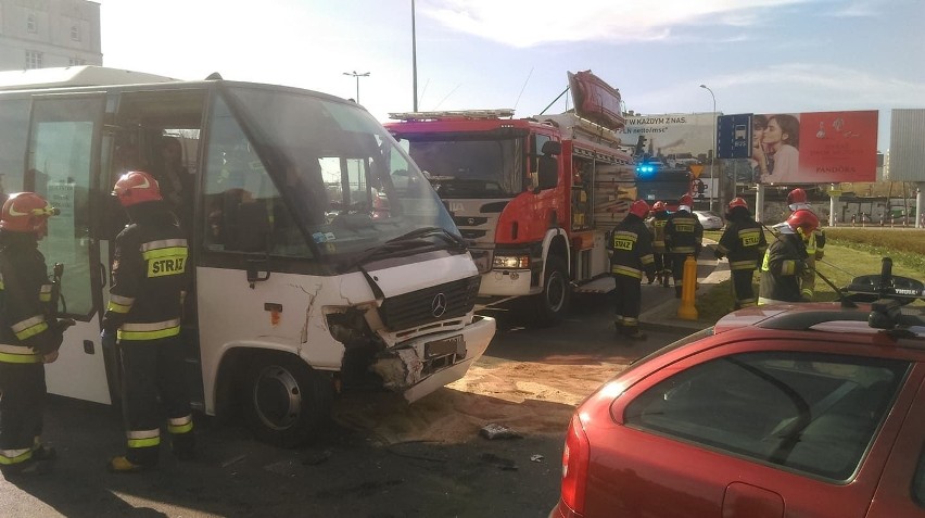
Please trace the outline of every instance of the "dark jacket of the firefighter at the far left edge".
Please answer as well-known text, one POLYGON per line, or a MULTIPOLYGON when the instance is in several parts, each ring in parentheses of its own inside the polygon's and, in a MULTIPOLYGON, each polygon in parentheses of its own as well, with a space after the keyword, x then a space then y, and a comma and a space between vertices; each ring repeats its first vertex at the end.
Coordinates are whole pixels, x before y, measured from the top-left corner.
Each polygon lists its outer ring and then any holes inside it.
POLYGON ((41 363, 61 346, 51 291, 35 235, 0 230, 0 362, 41 363))

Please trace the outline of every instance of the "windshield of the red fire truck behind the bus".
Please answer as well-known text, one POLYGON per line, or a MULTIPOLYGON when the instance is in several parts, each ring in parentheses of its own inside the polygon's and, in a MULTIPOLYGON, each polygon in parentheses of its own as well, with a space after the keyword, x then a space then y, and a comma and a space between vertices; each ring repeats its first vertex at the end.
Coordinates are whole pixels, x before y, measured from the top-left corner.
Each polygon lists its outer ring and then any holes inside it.
POLYGON ((523 190, 522 138, 440 134, 400 143, 443 199, 511 198, 523 190))

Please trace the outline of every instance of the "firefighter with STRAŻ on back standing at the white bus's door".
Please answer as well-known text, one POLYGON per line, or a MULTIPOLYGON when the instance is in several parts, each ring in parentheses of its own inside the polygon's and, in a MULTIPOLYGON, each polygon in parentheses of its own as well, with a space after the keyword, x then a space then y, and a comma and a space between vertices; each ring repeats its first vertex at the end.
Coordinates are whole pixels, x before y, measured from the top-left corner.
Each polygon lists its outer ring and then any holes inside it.
POLYGON ((157 465, 161 405, 174 455, 194 455, 180 339, 189 249, 153 176, 129 172, 116 181, 113 195, 130 224, 115 239, 103 337, 110 341, 115 334, 122 356, 127 448, 110 459, 109 469, 132 472, 157 465))

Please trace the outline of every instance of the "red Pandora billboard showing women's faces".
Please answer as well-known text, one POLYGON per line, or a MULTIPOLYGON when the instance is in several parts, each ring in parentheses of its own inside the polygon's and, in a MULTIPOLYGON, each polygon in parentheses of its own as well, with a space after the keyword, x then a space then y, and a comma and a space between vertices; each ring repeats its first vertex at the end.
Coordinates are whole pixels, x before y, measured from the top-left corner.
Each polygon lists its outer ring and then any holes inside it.
POLYGON ((751 129, 757 182, 876 180, 875 110, 755 114, 751 129))

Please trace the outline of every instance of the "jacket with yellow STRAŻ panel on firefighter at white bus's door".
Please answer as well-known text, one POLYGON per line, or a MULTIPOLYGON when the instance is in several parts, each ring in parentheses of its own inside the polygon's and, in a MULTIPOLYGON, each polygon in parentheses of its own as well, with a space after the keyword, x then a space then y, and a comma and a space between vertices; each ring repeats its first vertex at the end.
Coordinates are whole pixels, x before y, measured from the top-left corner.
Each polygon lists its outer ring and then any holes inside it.
MULTIPOLYGON (((161 209, 160 203, 147 209, 161 209)), ((119 340, 157 340, 180 332, 189 285, 186 236, 166 210, 132 215, 115 240, 110 302, 103 329, 119 340)))

